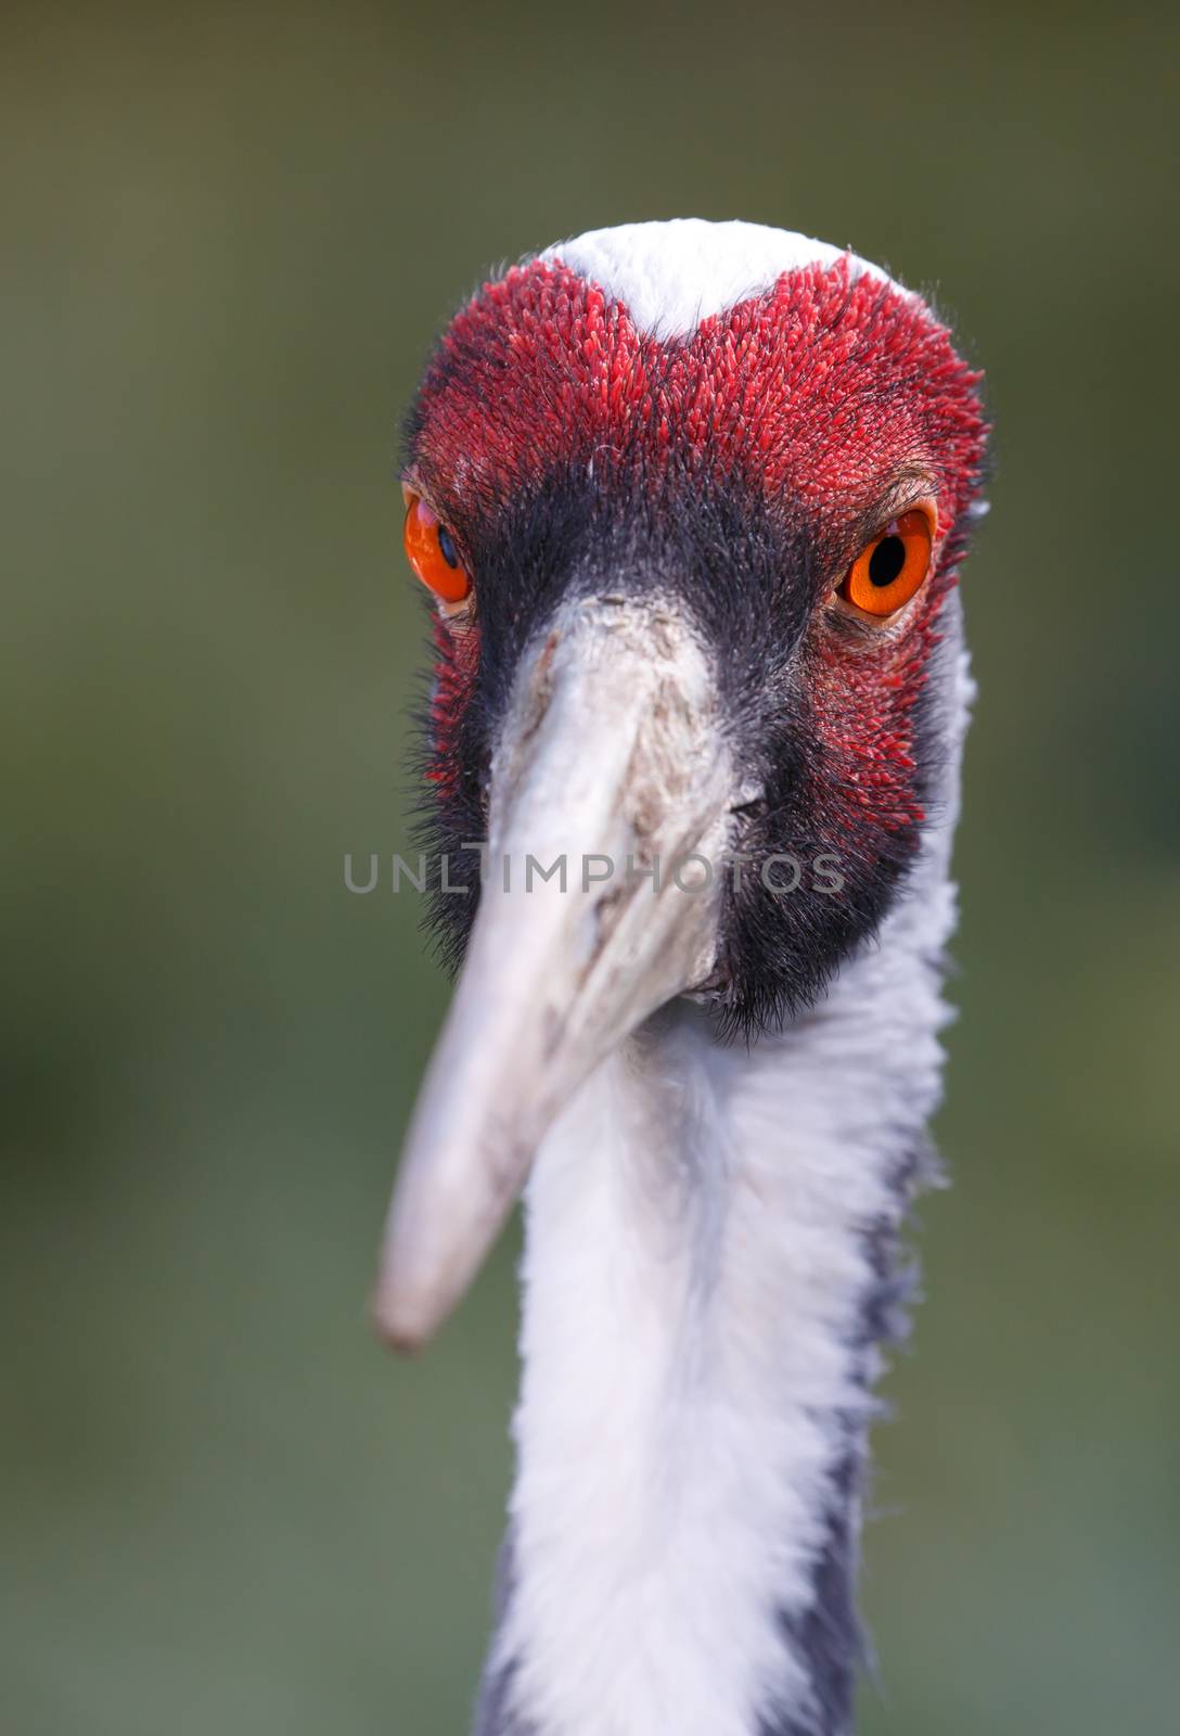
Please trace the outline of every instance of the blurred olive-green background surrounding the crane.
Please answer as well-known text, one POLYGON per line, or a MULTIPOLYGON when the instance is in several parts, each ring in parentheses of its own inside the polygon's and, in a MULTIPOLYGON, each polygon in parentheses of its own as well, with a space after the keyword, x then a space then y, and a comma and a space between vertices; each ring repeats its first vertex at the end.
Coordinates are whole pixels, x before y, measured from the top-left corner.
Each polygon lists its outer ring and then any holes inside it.
POLYGON ((5 1736, 463 1733, 512 1238, 370 1337, 446 988, 406 844, 396 427, 496 260, 744 215, 987 365, 927 1304, 868 1736, 1180 1698, 1177 266, 1164 12, 3 9, 5 1736))

